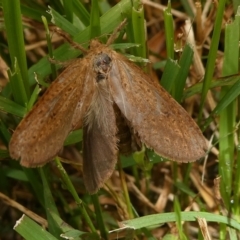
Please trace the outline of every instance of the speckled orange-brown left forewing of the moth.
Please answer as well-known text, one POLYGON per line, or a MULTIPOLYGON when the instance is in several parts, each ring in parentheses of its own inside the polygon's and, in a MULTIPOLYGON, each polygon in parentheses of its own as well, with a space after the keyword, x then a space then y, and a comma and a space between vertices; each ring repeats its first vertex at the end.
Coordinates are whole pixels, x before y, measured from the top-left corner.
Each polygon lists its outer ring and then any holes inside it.
MULTIPOLYGON (((9 143, 10 156, 21 158, 23 166, 42 166, 61 150, 73 128, 87 66, 79 59, 65 69, 14 131, 9 143)), ((83 117, 83 112, 79 115, 83 117)))

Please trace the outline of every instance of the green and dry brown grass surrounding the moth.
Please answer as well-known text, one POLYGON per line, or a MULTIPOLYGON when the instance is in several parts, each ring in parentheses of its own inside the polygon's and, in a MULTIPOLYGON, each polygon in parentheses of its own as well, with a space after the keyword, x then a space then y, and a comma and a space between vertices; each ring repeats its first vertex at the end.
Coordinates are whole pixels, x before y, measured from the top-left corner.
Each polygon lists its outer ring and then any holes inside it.
MULTIPOLYGON (((60 239, 63 234, 72 239, 207 239, 207 233, 211 239, 239 238, 238 8, 236 3, 232 7, 220 0, 207 15, 198 9, 190 29, 177 38, 185 24, 171 10, 191 17, 194 12, 183 2, 172 1, 160 17, 159 10, 156 13, 147 3, 142 7, 137 0, 134 7, 128 0, 116 5, 77 0, 61 5, 52 0, 49 6, 44 1, 41 5, 32 0, 0 1, 5 23, 0 54, 10 68, 1 67, 0 75, 5 82, 0 94, 0 238, 60 239), (93 196, 85 191, 81 166, 57 158, 43 168, 26 169, 11 160, 7 146, 12 131, 44 89, 36 85, 36 78, 53 81, 57 74, 59 66, 51 66, 48 54, 62 62, 81 54, 52 36, 52 27, 87 46, 99 35, 106 41, 124 18, 128 19, 125 42, 140 45, 128 52, 149 58, 154 71, 143 69, 161 79, 165 89, 197 119, 209 141, 206 159, 177 164, 150 150, 146 151, 151 162, 144 161, 142 153, 121 156, 120 176, 116 171, 107 187, 93 196), (191 44, 186 43, 187 37, 191 44), (48 43, 41 44, 46 39, 48 43), (201 220, 206 220, 205 225, 201 220)), ((122 37, 116 43, 122 43, 122 37)), ((81 129, 69 134, 64 158, 74 159, 76 154, 81 158, 81 141, 81 129)))

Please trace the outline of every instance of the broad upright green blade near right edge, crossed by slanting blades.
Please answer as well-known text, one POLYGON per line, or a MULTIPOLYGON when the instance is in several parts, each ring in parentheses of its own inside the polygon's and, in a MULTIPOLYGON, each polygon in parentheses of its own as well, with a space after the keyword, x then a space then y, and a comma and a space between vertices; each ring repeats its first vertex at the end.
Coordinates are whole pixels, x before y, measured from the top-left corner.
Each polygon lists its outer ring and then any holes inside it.
MULTIPOLYGON (((223 76, 233 75, 238 72, 239 52, 236 51, 239 43, 239 21, 235 20, 225 28, 225 51, 223 61, 223 76)), ((236 94, 239 94, 239 89, 234 89, 226 86, 221 89, 221 99, 228 101, 228 106, 220 113, 219 122, 219 172, 222 176, 221 194, 226 207, 230 207, 230 199, 232 194, 233 181, 233 160, 234 160, 234 134, 236 119, 236 101, 233 99, 236 94), (232 94, 235 93, 235 95, 232 94), (229 96, 228 98, 225 96, 229 96), (225 97, 225 98, 224 98, 225 97)))

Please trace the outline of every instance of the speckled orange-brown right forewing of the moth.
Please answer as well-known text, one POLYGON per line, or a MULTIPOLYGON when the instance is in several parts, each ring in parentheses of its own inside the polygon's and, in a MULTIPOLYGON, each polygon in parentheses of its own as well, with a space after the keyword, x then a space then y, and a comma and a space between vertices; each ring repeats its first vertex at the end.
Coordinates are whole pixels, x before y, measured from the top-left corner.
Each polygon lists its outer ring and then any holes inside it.
POLYGON ((206 142, 188 113, 136 65, 112 51, 113 99, 141 141, 159 155, 181 162, 205 155, 206 142))

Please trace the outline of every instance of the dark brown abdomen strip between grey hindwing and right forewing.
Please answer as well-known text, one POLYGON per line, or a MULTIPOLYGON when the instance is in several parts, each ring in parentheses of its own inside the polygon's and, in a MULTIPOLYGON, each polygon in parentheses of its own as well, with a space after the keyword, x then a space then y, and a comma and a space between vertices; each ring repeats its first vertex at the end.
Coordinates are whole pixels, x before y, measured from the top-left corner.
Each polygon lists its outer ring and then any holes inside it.
POLYGON ((116 117, 116 125, 118 128, 117 138, 119 139, 118 142, 118 149, 121 154, 128 155, 132 153, 132 137, 131 131, 127 124, 127 121, 122 116, 119 108, 114 105, 114 112, 116 117))

